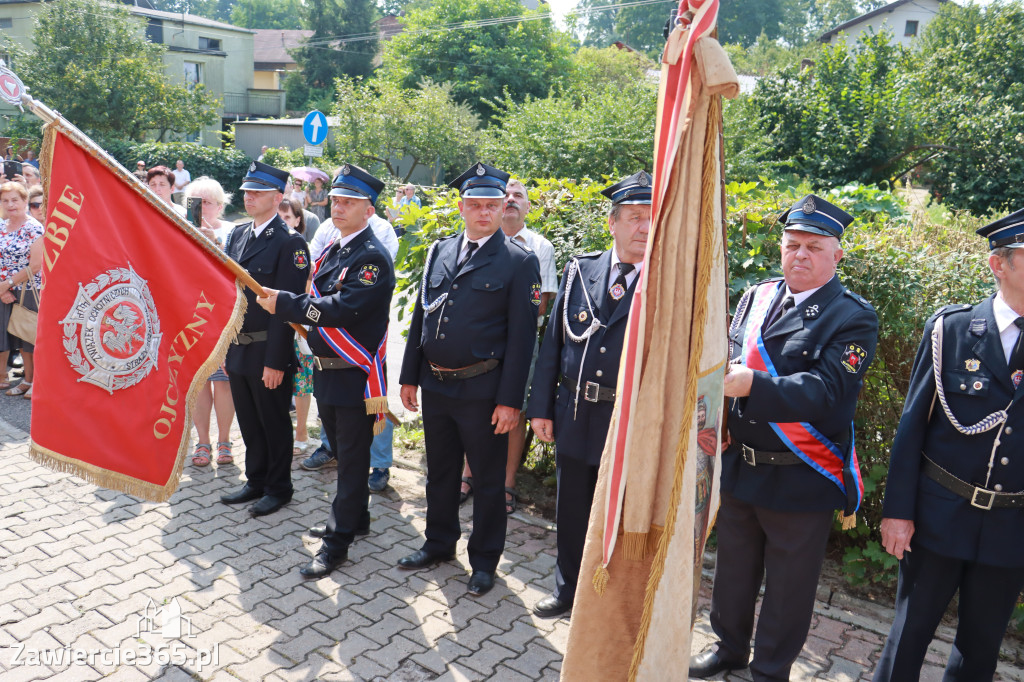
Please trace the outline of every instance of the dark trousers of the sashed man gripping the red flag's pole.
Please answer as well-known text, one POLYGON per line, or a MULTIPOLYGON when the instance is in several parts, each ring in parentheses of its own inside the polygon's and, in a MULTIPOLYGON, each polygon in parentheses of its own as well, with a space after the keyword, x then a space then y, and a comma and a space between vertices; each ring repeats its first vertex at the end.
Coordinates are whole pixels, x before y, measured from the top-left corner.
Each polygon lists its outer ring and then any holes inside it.
POLYGON ((319 406, 319 416, 338 458, 338 492, 331 504, 324 548, 338 555, 348 551, 355 531, 370 527, 370 443, 374 439, 374 415, 365 407, 319 406))

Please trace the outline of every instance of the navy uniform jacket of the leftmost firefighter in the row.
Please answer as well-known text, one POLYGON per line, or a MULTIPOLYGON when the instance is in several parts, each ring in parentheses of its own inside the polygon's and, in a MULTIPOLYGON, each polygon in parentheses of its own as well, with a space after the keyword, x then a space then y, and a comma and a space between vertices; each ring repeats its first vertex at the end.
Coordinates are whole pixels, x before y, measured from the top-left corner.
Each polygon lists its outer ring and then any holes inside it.
MULTIPOLYGON (((309 278, 309 249, 298 232, 289 228, 279 216, 252 237, 253 223, 238 225, 227 236, 227 255, 249 270, 263 287, 302 293, 309 278)), ((292 370, 295 368, 295 332, 280 316, 272 316, 256 303, 256 294, 246 288, 246 316, 242 332, 267 333, 266 341, 247 345, 231 344, 227 350, 227 371, 231 374, 262 377, 263 368, 292 370)))

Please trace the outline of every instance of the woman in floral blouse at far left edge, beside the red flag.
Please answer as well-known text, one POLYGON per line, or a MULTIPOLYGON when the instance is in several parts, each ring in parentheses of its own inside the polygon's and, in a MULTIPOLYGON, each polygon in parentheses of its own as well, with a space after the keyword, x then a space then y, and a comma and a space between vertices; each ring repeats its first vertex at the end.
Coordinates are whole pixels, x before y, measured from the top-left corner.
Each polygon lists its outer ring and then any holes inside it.
MULTIPOLYGON (((33 351, 35 346, 7 333, 7 323, 14 301, 20 301, 22 288, 29 288, 29 281, 35 281, 36 292, 42 286, 39 270, 43 265, 43 226, 29 215, 29 190, 19 182, 0 184, 0 206, 6 213, 6 220, 0 222, 0 367, 7 367, 7 354, 18 345, 25 363, 25 379, 14 386, 12 382, 0 382, 0 389, 7 389, 7 395, 32 397, 32 380, 35 374, 33 351)), ((38 310, 36 297, 31 290, 26 291, 24 304, 31 310, 38 310)))

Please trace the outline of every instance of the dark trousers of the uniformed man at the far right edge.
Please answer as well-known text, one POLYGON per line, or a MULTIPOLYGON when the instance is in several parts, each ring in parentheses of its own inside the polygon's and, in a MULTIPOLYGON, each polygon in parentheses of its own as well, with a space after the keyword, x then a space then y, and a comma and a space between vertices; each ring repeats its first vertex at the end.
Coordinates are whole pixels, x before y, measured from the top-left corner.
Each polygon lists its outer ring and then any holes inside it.
POLYGON ((901 682, 921 676, 935 628, 957 591, 956 639, 942 679, 991 680, 1022 587, 1024 567, 987 566, 914 546, 899 563, 896 617, 882 649, 874 682, 901 682))

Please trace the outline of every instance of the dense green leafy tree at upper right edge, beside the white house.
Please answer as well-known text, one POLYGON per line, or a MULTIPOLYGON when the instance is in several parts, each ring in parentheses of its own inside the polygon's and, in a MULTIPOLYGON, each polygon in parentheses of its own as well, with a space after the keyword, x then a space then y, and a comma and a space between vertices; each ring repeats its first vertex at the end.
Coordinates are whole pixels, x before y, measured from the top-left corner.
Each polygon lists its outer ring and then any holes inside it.
MULTIPOLYGON (((953 207, 978 214, 1024 204, 1024 6, 945 3, 922 37, 911 77, 933 144, 929 178, 953 207)), ((904 166, 916 159, 908 157, 904 166)))

